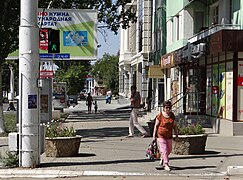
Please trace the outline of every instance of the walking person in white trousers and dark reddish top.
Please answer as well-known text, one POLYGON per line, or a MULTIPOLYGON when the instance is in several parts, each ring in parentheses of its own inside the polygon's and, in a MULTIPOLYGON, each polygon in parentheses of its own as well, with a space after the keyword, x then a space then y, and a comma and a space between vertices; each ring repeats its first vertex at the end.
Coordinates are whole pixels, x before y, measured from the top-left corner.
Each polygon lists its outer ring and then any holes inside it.
POLYGON ((131 86, 131 114, 129 120, 129 135, 127 137, 134 137, 134 126, 141 132, 141 137, 146 137, 146 130, 138 123, 138 111, 141 103, 140 93, 137 91, 136 86, 131 86))

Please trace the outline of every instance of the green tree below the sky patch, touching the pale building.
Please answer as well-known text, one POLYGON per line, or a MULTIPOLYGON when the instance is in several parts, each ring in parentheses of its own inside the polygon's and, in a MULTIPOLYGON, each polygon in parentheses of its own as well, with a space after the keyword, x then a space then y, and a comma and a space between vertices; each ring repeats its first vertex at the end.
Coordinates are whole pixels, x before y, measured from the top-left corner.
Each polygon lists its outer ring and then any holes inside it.
POLYGON ((104 54, 94 64, 92 74, 94 78, 102 79, 106 88, 111 89, 113 94, 119 92, 119 56, 104 54))

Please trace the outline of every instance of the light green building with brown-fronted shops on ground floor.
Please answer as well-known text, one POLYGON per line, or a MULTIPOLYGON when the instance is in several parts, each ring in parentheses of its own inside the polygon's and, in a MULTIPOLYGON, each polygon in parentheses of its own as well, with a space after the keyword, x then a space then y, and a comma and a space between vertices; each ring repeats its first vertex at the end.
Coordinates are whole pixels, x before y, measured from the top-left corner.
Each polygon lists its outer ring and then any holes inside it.
POLYGON ((243 0, 167 0, 165 99, 243 134, 243 0), (176 6, 175 6, 176 4, 176 6))

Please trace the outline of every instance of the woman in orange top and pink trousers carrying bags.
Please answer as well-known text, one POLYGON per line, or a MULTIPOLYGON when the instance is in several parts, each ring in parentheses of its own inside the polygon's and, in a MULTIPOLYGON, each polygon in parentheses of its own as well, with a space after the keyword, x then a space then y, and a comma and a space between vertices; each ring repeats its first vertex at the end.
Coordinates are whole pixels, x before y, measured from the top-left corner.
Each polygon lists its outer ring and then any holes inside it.
POLYGON ((153 140, 157 141, 160 147, 161 160, 160 165, 164 166, 164 169, 170 171, 169 167, 169 155, 172 151, 172 138, 173 130, 175 131, 176 140, 178 139, 178 129, 175 122, 175 115, 171 112, 172 104, 170 101, 163 103, 163 110, 156 116, 154 125, 153 140))

